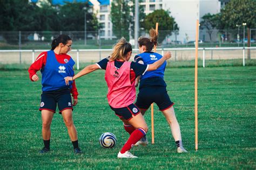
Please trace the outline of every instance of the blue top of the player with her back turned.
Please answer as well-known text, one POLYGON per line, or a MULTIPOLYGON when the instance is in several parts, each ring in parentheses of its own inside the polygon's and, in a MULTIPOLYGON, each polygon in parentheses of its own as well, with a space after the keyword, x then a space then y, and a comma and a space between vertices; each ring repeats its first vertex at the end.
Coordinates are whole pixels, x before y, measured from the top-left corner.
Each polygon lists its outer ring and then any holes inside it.
MULTIPOLYGON (((135 62, 139 62, 142 60, 144 65, 150 65, 158 60, 160 60, 163 56, 154 53, 154 52, 144 52, 136 55, 134 57, 135 62)), ((164 71, 166 67, 166 61, 161 65, 158 69, 153 71, 147 71, 144 75, 140 77, 139 89, 147 86, 164 86, 166 87, 166 83, 164 81, 164 71)))

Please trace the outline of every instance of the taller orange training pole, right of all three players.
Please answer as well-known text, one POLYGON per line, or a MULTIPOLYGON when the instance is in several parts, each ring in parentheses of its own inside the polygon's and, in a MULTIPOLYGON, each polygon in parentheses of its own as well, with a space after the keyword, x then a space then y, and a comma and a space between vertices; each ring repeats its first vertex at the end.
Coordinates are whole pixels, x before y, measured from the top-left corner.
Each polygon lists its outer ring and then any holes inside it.
POLYGON ((196 151, 198 149, 198 114, 197 114, 197 59, 198 59, 198 29, 199 29, 199 20, 197 19, 197 28, 196 28, 196 56, 194 58, 194 129, 195 129, 195 144, 196 151))

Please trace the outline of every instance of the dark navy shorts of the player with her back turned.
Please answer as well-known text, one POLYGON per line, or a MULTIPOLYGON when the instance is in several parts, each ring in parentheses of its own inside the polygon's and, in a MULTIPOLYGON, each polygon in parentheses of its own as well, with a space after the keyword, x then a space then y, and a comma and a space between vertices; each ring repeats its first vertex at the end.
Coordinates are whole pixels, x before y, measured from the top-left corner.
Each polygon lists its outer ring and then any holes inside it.
POLYGON ((164 86, 149 86, 139 89, 136 105, 139 109, 147 110, 156 103, 160 111, 169 109, 174 104, 164 86))

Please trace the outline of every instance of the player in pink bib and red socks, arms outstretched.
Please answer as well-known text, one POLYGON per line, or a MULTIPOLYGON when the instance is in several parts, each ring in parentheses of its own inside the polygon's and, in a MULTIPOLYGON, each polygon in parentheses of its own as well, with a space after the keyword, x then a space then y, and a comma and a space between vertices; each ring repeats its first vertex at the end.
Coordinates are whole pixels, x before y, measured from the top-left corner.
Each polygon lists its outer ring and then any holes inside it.
POLYGON ((147 132, 147 124, 138 107, 133 104, 136 98, 135 80, 146 71, 156 70, 165 60, 171 58, 167 52, 152 65, 141 65, 130 62, 132 46, 121 38, 113 46, 112 54, 98 63, 85 67, 75 76, 65 77, 66 85, 80 76, 91 73, 97 69, 105 69, 105 80, 108 87, 107 100, 110 108, 123 121, 124 129, 130 134, 129 139, 118 153, 118 158, 138 158, 129 151, 147 132))

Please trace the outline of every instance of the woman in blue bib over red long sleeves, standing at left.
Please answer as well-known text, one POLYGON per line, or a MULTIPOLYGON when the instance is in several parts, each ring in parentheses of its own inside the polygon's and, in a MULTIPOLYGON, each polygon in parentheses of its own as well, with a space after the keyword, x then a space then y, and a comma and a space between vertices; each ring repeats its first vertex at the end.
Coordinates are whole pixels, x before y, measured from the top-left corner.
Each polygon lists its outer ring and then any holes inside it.
POLYGON ((42 137, 44 147, 39 153, 50 151, 51 122, 58 104, 59 114, 62 114, 66 128, 75 153, 82 153, 78 147, 77 130, 73 124, 72 110, 73 105, 78 103, 77 88, 75 81, 70 86, 66 86, 64 77, 73 76, 73 66, 75 61, 67 53, 71 51, 72 40, 64 34, 53 39, 51 50, 42 52, 36 61, 29 67, 29 77, 31 81, 38 81, 36 74, 38 70, 42 73, 42 95, 39 110, 42 115, 42 137), (73 96, 73 104, 71 95, 73 96))

